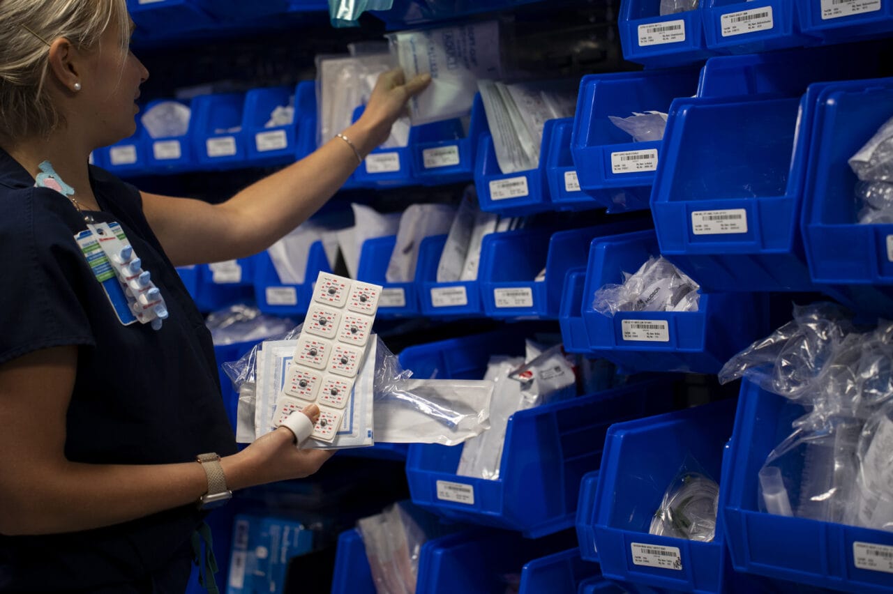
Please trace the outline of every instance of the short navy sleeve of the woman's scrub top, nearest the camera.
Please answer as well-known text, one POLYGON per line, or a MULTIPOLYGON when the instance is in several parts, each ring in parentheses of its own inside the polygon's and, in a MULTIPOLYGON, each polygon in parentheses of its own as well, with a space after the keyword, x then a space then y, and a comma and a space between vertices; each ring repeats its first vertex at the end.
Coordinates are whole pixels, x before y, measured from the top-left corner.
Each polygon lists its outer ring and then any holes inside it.
POLYGON ((46 192, 53 191, 16 192, 0 222, 0 364, 39 349, 95 344, 85 308, 111 308, 91 304, 102 289, 71 228, 55 209, 44 208, 52 198, 59 207, 58 197, 46 192))

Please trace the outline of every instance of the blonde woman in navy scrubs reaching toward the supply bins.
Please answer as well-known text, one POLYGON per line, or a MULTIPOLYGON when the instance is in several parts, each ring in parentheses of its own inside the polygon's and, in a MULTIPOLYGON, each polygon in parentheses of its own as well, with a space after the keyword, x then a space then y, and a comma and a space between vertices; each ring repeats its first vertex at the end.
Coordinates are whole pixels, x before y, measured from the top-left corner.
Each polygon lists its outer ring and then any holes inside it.
POLYGON ((340 137, 211 205, 88 167, 133 134, 148 77, 125 0, 0 0, 0 22, 0 591, 181 592, 202 499, 313 474, 330 454, 297 450, 286 428, 236 453, 209 334, 173 266, 288 233, 428 79, 383 74, 340 137), (75 242, 113 221, 165 301, 158 329, 121 322, 75 242))

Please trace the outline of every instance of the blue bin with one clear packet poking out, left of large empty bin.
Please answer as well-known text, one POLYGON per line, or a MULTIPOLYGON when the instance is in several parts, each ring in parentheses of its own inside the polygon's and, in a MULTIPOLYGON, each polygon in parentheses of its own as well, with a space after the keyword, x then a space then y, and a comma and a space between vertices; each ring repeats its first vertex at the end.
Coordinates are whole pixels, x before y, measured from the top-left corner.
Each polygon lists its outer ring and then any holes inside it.
POLYGON ((695 94, 698 72, 694 68, 616 72, 580 80, 571 153, 583 192, 609 212, 648 208, 655 170, 667 143, 634 143, 608 116, 669 111, 675 97, 695 94))

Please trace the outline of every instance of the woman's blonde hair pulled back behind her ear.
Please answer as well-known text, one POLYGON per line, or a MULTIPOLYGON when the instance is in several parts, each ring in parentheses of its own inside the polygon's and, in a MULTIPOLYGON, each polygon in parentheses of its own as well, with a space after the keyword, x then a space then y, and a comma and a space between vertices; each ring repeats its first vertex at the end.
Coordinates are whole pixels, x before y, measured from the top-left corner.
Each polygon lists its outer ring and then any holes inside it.
POLYGON ((0 0, 0 138, 46 136, 63 124, 46 94, 47 45, 65 37, 93 49, 115 20, 127 51, 127 0, 0 0))

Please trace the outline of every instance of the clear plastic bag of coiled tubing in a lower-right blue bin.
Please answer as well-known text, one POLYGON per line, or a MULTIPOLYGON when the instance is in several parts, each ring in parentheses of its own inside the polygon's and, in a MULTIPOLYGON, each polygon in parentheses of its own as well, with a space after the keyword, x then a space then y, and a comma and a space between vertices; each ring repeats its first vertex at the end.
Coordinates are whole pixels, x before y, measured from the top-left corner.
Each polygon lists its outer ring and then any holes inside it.
POLYGON ((710 542, 716 533, 720 487, 694 460, 686 460, 663 493, 648 533, 710 542))

